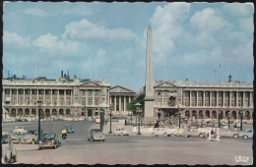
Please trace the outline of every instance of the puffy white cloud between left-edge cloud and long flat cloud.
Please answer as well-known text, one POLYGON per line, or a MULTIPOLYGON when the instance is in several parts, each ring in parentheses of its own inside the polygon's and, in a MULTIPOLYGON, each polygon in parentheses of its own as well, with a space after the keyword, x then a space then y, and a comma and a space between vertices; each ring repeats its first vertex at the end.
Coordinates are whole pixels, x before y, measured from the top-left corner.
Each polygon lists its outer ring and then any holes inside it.
POLYGON ((42 52, 50 55, 72 55, 79 50, 79 43, 70 40, 59 40, 57 36, 51 33, 40 35, 32 44, 38 47, 42 52))

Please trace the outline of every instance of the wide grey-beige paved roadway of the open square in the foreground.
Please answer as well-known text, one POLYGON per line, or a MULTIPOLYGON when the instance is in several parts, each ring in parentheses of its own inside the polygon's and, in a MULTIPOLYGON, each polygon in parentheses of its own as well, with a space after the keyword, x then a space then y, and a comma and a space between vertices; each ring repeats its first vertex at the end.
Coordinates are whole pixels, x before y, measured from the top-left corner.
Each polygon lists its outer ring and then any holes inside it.
MULTIPOLYGON (((15 125, 26 130, 37 130, 35 123, 5 123, 3 131, 15 125)), ((209 164, 239 165, 252 163, 252 139, 223 139, 208 141, 200 138, 112 136, 105 134, 105 141, 88 141, 91 127, 99 124, 84 122, 42 122, 44 133, 60 133, 71 125, 75 134, 62 139, 57 149, 18 150, 17 162, 25 164, 209 164), (246 163, 236 162, 235 157, 246 156, 246 163)))

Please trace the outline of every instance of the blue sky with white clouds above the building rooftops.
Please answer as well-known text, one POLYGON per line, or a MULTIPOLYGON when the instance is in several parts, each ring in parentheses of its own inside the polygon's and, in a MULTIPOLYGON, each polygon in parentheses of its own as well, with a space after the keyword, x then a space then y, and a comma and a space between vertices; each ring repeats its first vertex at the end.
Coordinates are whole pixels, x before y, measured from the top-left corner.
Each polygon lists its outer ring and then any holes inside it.
POLYGON ((4 2, 3 77, 79 79, 138 91, 147 28, 156 81, 253 82, 251 3, 4 2))

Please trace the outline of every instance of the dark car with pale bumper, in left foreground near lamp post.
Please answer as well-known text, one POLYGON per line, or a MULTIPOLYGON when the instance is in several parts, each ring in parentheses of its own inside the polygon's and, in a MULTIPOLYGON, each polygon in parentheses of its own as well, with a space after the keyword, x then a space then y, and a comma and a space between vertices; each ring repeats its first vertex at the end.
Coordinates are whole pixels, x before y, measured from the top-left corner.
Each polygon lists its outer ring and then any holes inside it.
POLYGON ((56 149, 61 145, 60 137, 54 133, 42 134, 39 140, 39 149, 54 148, 56 149))

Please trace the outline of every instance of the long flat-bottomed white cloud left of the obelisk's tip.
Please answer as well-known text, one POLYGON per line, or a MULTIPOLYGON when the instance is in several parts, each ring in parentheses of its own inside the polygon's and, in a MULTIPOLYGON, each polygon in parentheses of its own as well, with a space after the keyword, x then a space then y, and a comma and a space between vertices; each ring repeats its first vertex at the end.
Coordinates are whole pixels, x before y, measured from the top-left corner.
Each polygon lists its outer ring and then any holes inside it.
POLYGON ((71 39, 118 41, 133 39, 135 34, 127 28, 105 28, 84 19, 80 22, 72 22, 66 26, 63 37, 71 39))

